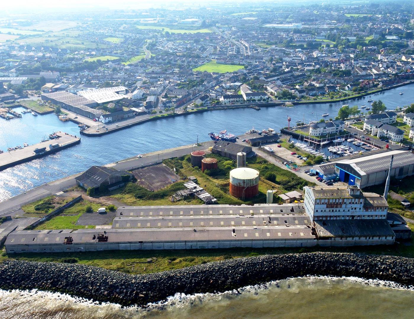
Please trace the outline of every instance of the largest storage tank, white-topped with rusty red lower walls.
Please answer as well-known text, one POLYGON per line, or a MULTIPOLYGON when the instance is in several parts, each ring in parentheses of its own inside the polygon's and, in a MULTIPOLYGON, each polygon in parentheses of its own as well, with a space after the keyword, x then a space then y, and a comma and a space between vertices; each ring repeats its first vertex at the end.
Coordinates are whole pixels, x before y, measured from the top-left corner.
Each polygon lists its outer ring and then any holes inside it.
POLYGON ((238 167, 230 171, 230 194, 248 199, 259 193, 259 171, 249 167, 238 167))

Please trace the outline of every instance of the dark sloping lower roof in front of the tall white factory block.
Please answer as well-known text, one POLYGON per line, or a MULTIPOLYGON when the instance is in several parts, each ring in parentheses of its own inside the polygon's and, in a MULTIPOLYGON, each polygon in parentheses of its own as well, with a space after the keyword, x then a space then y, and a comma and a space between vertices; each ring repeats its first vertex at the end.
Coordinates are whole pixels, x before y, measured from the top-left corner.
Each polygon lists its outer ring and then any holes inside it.
POLYGON ((316 220, 318 237, 395 236, 386 219, 316 220))

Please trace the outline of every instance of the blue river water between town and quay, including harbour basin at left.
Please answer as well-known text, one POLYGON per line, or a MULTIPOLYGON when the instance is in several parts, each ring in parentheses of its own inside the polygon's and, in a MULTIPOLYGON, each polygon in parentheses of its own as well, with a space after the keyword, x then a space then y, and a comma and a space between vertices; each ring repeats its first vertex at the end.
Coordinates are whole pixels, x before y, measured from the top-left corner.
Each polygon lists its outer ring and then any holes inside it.
MULTIPOLYGON (((264 129, 272 127, 279 130, 287 126, 287 117, 292 123, 297 120, 306 122, 319 120, 323 113, 334 118, 339 108, 347 103, 351 106, 367 105, 369 98, 381 99, 388 109, 405 106, 414 101, 414 84, 383 91, 359 100, 323 104, 302 104, 291 108, 270 107, 260 111, 253 109, 218 110, 189 114, 175 118, 165 118, 142 125, 136 125, 102 137, 84 137, 80 144, 56 154, 20 164, 0 172, 0 201, 32 189, 45 182, 79 173, 91 165, 105 165, 140 153, 148 153, 176 146, 193 144, 208 139, 209 132, 226 129, 233 134, 243 134, 251 127, 264 129), (399 92, 404 95, 399 95, 399 92)), ((22 109, 15 109, 17 112, 22 109)), ((35 144, 50 134, 61 130, 79 134, 77 125, 62 122, 54 114, 33 116, 22 115, 20 119, 6 121, 0 118, 0 149, 35 144)))

